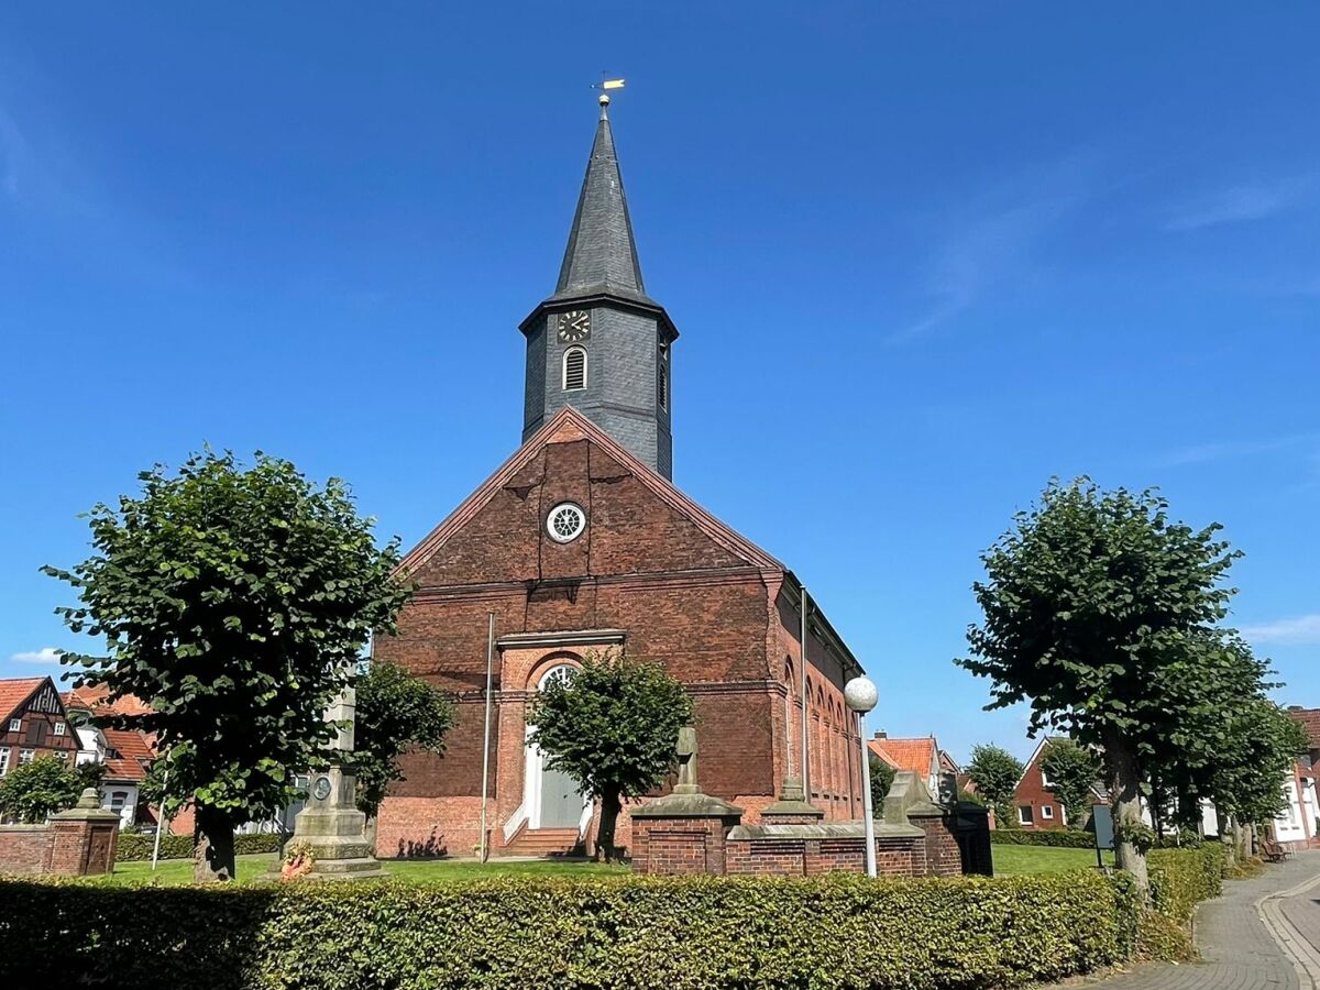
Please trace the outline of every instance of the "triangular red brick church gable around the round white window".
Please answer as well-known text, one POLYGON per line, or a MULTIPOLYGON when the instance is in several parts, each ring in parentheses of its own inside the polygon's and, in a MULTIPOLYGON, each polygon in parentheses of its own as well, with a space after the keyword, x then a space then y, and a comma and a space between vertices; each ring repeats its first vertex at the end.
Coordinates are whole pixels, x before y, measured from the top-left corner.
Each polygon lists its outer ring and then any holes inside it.
POLYGON ((404 561, 424 586, 777 568, 599 428, 565 409, 404 561), (557 540, 557 507, 582 511, 557 540))

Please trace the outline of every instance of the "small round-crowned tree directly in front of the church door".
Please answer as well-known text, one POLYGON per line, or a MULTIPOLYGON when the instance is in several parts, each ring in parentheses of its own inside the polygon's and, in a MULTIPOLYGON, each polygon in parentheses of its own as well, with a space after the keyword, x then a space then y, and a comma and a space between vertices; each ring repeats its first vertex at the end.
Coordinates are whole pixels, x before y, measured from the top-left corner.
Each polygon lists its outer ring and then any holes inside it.
POLYGON ((537 692, 527 721, 546 764, 601 799, 597 853, 612 861, 622 799, 642 797, 673 772, 692 698, 659 664, 587 655, 574 676, 537 692))

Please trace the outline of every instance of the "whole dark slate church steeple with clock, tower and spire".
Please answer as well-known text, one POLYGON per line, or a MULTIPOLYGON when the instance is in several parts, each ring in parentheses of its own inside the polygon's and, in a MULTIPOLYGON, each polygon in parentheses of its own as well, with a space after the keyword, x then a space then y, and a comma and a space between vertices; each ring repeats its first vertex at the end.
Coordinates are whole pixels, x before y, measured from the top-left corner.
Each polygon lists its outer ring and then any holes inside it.
POLYGON ((527 337, 523 440, 572 405, 671 478, 678 331, 645 294, 609 103, 602 95, 554 293, 519 327, 527 337))

